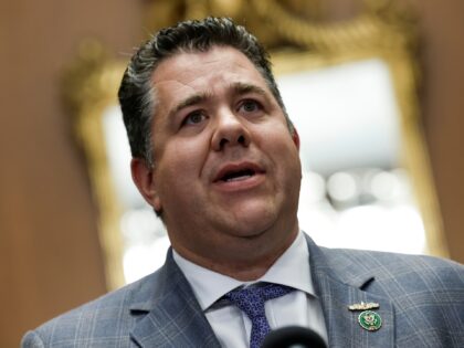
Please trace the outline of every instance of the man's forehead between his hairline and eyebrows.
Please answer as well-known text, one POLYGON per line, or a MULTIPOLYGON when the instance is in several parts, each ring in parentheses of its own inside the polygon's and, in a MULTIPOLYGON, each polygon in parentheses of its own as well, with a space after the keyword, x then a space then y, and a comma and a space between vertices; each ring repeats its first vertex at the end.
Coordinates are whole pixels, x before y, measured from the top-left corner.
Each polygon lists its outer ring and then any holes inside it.
POLYGON ((157 66, 151 81, 161 103, 183 98, 199 89, 214 94, 234 83, 252 84, 270 92, 254 64, 242 52, 230 46, 177 53, 157 66))

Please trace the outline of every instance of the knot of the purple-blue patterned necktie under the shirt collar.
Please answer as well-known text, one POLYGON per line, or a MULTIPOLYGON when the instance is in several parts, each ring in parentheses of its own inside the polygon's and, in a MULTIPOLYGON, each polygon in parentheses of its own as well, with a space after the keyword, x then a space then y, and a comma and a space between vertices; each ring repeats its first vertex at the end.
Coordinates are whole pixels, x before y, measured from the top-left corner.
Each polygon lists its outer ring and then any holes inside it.
POLYGON ((266 300, 284 296, 293 291, 295 289, 289 286, 267 283, 263 286, 235 288, 225 294, 225 298, 252 319, 257 316, 265 316, 264 303, 266 300))

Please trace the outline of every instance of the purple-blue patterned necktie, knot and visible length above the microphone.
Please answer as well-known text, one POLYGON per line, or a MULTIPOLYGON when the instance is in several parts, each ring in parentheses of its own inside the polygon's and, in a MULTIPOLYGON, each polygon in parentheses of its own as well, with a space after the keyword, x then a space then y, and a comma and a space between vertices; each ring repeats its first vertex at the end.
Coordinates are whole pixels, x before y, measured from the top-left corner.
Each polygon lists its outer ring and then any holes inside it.
POLYGON ((239 307, 252 323, 250 348, 260 348, 264 337, 271 331, 266 319, 264 303, 267 299, 284 296, 295 291, 293 287, 270 284, 256 287, 239 287, 225 294, 232 304, 239 307))

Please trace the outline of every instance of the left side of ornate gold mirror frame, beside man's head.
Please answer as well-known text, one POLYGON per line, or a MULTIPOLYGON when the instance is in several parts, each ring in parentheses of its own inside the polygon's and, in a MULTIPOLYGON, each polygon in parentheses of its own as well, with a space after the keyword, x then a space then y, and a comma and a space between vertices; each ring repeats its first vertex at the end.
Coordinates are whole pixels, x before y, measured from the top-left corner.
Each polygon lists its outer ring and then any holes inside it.
POLYGON ((74 134, 85 154, 92 192, 98 207, 99 241, 109 289, 125 283, 119 228, 122 207, 108 168, 102 115, 105 108, 117 103, 124 68, 125 64, 109 57, 102 44, 87 40, 81 44, 77 60, 63 76, 63 98, 73 116, 74 134))

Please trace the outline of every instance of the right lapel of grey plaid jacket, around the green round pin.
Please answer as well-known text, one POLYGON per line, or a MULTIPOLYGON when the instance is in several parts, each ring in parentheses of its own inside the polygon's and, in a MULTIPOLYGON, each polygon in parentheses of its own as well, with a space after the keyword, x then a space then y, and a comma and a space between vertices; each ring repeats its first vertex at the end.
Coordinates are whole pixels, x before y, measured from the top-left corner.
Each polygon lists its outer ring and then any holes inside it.
POLYGON ((394 346, 394 310, 392 303, 382 296, 370 294, 362 288, 375 277, 366 270, 366 265, 346 255, 334 253, 334 260, 326 255, 309 238, 309 262, 313 283, 319 296, 325 316, 330 347, 393 347, 394 346), (351 312, 349 305, 378 303, 373 309, 382 320, 377 331, 368 331, 358 323, 362 310, 351 312))

